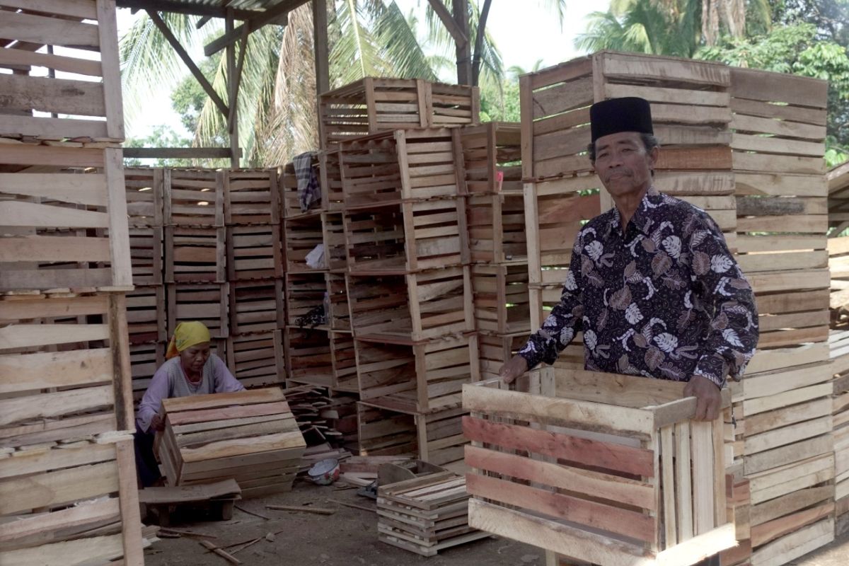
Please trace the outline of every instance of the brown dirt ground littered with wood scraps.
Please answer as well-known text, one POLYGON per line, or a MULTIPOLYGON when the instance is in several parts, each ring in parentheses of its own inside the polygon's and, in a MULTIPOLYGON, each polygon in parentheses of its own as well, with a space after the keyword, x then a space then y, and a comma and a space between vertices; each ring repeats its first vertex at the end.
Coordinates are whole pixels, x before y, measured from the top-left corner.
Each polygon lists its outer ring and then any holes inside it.
MULTIPOLYGON (((216 546, 242 541, 261 541, 239 551, 231 547, 245 566, 543 566, 543 552, 534 546, 499 538, 455 546, 436 557, 424 558, 390 546, 377 539, 377 514, 345 507, 334 501, 374 507, 374 501, 357 496, 356 490, 296 482, 289 493, 237 502, 239 507, 269 519, 256 517, 238 508, 229 521, 202 521, 172 524, 175 529, 193 530, 216 538, 162 538, 144 553, 147 566, 227 566, 228 562, 200 545, 200 540, 216 546), (265 508, 267 504, 312 505, 335 509, 333 515, 289 513, 265 508)), ((791 562, 796 566, 846 566, 849 564, 849 535, 829 546, 791 562)))

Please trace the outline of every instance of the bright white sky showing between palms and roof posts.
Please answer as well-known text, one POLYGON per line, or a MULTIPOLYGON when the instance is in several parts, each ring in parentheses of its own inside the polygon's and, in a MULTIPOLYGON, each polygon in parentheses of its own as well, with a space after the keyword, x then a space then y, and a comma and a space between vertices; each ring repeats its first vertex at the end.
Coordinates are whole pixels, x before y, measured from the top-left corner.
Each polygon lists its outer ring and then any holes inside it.
MULTIPOLYGON (((396 0, 404 14, 410 9, 424 20, 427 0, 396 0)), ((543 59, 543 67, 574 59, 582 53, 574 48, 578 33, 584 31, 586 15, 593 11, 605 11, 610 0, 587 2, 568 1, 561 29, 553 11, 544 8, 543 0, 494 0, 490 8, 486 28, 494 38, 503 58, 504 68, 513 65, 531 70, 537 59, 543 59)), ((118 10, 118 35, 121 36, 132 25, 136 16, 127 8, 118 10)), ((422 34, 424 35, 424 32, 422 34)), ((197 61, 200 53, 192 53, 197 61)), ((184 75, 188 70, 183 67, 184 75)), ((168 125, 177 132, 183 131, 179 117, 171 110, 170 92, 156 92, 146 98, 147 102, 137 114, 127 115, 127 136, 145 137, 155 126, 168 125)))

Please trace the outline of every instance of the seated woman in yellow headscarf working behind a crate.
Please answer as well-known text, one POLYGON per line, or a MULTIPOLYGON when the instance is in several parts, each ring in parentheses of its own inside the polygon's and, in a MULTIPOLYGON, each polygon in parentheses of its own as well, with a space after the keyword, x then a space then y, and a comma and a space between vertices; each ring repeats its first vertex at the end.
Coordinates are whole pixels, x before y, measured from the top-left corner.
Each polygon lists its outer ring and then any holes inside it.
POLYGON ((144 487, 160 479, 153 446, 155 431, 165 427, 159 414, 163 399, 245 389, 224 361, 210 352, 210 331, 203 322, 177 324, 166 359, 144 392, 136 415, 136 462, 144 487))

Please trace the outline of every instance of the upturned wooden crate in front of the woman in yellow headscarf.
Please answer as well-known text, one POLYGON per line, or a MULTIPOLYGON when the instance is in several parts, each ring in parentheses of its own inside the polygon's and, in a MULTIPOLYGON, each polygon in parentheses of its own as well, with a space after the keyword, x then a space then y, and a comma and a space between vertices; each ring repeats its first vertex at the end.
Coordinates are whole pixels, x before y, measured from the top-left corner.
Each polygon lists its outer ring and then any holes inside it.
POLYGON ((158 452, 171 485, 232 478, 243 497, 292 489, 306 442, 282 389, 166 399, 162 407, 158 452))

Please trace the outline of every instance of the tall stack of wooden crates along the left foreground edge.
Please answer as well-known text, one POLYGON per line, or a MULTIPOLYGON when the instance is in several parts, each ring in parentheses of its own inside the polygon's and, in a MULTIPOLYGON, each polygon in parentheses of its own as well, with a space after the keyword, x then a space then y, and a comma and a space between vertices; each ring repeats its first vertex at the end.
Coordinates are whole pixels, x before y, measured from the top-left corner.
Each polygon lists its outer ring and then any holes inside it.
POLYGON ((5 4, 0 563, 137 566, 115 2, 5 4))

